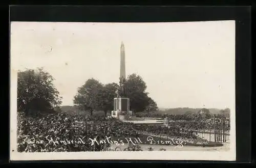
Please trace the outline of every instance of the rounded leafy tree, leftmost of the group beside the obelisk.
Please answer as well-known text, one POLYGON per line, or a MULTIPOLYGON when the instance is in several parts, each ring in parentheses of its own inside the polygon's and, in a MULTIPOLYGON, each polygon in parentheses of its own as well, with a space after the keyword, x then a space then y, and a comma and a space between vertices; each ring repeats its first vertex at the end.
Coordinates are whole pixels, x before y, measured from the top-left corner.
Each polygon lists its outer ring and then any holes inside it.
POLYGON ((98 80, 88 79, 84 85, 78 88, 78 92, 74 97, 74 104, 80 109, 89 110, 93 115, 93 110, 97 110, 101 106, 103 85, 98 80))

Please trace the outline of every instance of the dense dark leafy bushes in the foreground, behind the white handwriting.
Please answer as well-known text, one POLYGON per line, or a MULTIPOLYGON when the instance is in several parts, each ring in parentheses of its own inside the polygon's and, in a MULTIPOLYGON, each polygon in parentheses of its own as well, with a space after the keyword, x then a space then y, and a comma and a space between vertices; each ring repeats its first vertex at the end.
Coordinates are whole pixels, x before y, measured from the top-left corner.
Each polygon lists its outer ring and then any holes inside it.
MULTIPOLYGON (((111 145, 100 142, 104 137, 123 139, 125 137, 140 137, 138 132, 146 131, 154 134, 164 131, 165 128, 156 126, 136 126, 133 123, 121 122, 114 118, 103 116, 84 116, 74 114, 49 114, 37 118, 27 118, 23 114, 17 117, 17 150, 18 152, 79 152, 102 151, 111 145), (91 138, 91 139, 90 139, 91 138)), ((182 124, 179 124, 179 127, 182 124)), ((197 140, 191 133, 181 133, 180 129, 169 129, 166 135, 186 141, 197 140)), ((199 139, 200 140, 200 139, 199 139)), ((202 139, 201 139, 202 140, 202 139)), ((200 141, 201 141, 200 140, 200 141)), ((146 140, 144 140, 146 142, 146 140)), ((143 141, 143 142, 144 142, 143 141)), ((127 151, 141 151, 140 146, 129 146, 127 151)))

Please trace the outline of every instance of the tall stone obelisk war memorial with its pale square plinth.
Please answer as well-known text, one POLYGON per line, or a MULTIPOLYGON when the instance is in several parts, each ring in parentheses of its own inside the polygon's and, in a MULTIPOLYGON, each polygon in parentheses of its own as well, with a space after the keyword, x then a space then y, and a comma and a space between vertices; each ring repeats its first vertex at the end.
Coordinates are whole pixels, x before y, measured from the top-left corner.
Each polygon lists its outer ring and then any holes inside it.
POLYGON ((120 83, 119 83, 119 94, 114 98, 114 110, 112 116, 123 120, 123 116, 126 114, 132 115, 130 111, 130 99, 126 96, 126 74, 125 74, 125 51, 124 44, 121 42, 120 47, 120 83))

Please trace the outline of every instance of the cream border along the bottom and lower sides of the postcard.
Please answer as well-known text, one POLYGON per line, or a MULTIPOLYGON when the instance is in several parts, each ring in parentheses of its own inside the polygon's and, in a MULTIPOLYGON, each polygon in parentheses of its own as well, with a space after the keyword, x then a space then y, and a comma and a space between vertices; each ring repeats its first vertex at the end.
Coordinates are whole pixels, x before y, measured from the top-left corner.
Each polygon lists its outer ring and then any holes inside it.
MULTIPOLYGON (((234 42, 235 43, 235 42, 234 42)), ((10 52, 12 53, 12 52, 10 52)), ((11 59, 11 58, 10 58, 11 59)), ((111 151, 111 152, 17 152, 17 70, 10 69, 10 161, 25 160, 236 160, 236 95, 230 107, 230 150, 219 151, 111 151)), ((234 70, 235 72, 235 70, 234 70)))

